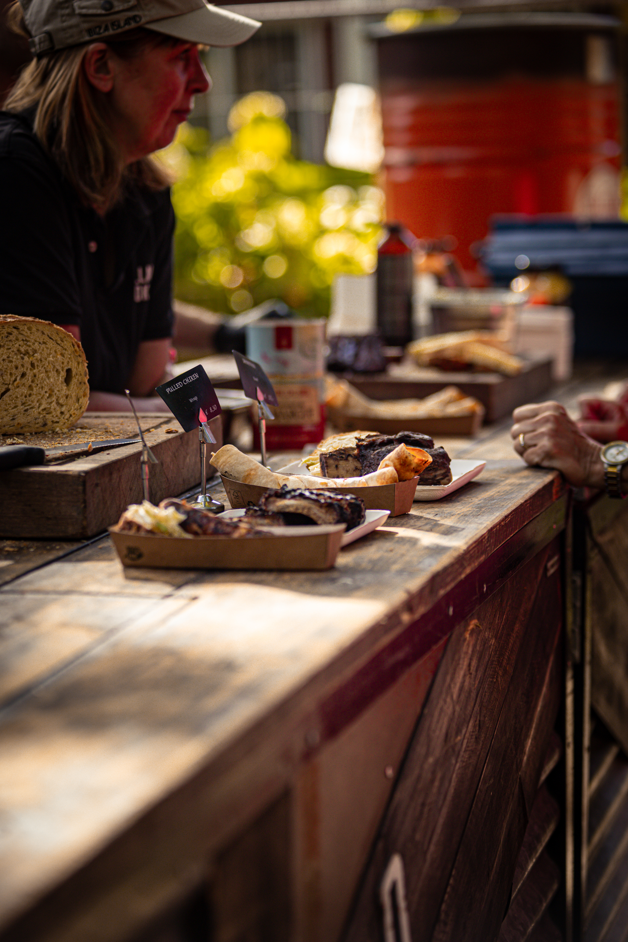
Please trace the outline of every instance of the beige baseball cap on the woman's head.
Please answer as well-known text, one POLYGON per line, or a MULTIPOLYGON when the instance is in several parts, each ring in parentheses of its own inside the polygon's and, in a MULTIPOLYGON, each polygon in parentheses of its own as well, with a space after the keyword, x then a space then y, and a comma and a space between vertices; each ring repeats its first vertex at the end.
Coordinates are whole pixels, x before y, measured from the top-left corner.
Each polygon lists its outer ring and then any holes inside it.
POLYGON ((236 46, 262 25, 205 0, 20 0, 34 56, 145 26, 185 42, 236 46))

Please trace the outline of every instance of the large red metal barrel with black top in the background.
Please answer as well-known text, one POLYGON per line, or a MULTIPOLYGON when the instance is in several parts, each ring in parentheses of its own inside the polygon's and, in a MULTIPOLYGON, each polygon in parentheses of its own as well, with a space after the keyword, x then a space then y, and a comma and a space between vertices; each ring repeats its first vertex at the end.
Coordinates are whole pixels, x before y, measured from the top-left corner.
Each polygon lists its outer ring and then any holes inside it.
POLYGON ((378 37, 387 217, 420 238, 454 235, 467 270, 495 213, 617 216, 610 18, 572 17, 568 28, 561 14, 534 16, 536 26, 513 14, 462 28, 461 17, 378 37))

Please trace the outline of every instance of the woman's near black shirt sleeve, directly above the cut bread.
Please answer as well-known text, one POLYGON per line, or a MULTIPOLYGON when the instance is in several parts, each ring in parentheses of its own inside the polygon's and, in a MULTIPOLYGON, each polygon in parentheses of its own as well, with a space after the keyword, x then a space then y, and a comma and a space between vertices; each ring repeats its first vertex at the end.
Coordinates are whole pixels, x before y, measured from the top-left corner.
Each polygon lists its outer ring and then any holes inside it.
POLYGON ((0 312, 80 326, 67 195, 37 148, 0 155, 0 312))

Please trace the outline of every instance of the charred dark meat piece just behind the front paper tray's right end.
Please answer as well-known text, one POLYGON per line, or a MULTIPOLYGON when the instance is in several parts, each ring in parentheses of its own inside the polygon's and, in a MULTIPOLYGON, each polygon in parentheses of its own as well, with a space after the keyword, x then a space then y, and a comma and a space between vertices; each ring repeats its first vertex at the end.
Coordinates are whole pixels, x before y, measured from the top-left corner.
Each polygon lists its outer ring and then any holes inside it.
POLYGON ((300 488, 290 490, 285 484, 278 491, 268 491, 263 495, 258 507, 263 511, 281 513, 285 523, 291 526, 346 524, 349 530, 359 527, 366 519, 360 497, 300 488))

